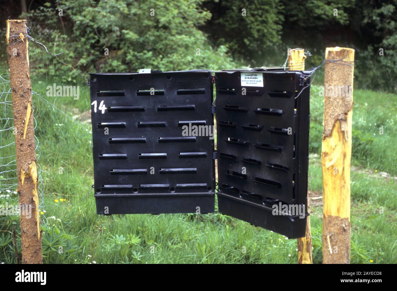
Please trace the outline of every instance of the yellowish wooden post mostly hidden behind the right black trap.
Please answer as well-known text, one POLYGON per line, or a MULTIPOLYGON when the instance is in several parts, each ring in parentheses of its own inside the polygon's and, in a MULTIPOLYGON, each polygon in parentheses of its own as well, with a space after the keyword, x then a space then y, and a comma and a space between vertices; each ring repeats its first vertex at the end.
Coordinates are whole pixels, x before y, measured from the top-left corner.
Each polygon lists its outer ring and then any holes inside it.
MULTIPOLYGON (((304 70, 304 49, 290 49, 288 51, 289 70, 304 70)), ((309 211, 309 199, 307 199, 307 211, 309 211)), ((306 235, 297 239, 298 243, 298 264, 312 264, 312 232, 310 230, 310 217, 306 220, 306 235)))

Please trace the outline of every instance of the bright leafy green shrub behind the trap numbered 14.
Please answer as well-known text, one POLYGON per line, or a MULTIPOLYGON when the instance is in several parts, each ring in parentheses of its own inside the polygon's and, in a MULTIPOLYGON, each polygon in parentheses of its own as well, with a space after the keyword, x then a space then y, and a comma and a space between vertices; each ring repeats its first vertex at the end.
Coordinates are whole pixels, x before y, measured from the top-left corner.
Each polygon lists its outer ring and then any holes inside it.
MULTIPOLYGON (((82 72, 236 67, 226 47, 213 48, 198 29, 211 17, 200 8, 201 3, 63 0, 58 8, 66 19, 64 30, 55 22, 58 10, 47 3, 30 13, 30 33, 82 72)), ((30 60, 35 74, 60 76, 68 82, 81 80, 70 67, 37 46, 31 46, 30 60)))

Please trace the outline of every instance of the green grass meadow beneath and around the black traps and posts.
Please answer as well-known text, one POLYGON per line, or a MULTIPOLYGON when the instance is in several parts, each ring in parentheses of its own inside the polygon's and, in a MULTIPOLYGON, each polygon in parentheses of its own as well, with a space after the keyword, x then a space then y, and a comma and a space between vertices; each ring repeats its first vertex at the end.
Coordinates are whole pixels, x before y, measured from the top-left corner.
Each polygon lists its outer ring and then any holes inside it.
MULTIPOLYGON (((33 80, 33 90, 46 97, 46 84, 33 80)), ((82 84, 80 99, 58 97, 56 106, 69 116, 90 108, 89 89, 82 84)), ((351 176, 352 263, 396 263, 397 180, 379 172, 397 174, 397 146, 393 124, 397 95, 355 90, 353 113, 353 164, 351 176), (368 105, 366 105, 368 104, 368 105), (376 124, 376 125, 375 125, 376 124), (379 135, 378 127, 384 127, 379 135), (375 135, 374 135, 375 133, 375 135), (377 172, 375 172, 377 170, 377 172), (381 211, 380 211, 381 210, 381 211), (381 213, 380 213, 381 212, 381 213)), ((46 263, 296 263, 296 240, 256 228, 218 212, 208 215, 96 215, 93 197, 91 126, 89 130, 66 118, 37 96, 33 97, 39 141, 42 190, 40 210, 42 245, 46 263), (61 125, 60 125, 61 124, 61 125), (63 173, 60 174, 60 167, 63 173), (66 201, 60 201, 60 199, 66 201), (58 202, 55 202, 58 200, 58 202), (59 220, 58 220, 59 219, 59 220), (62 247, 62 253, 59 253, 62 247), (243 252, 243 249, 246 249, 243 252), (154 252, 153 252, 154 251, 154 252)), ((319 160, 322 133, 322 97, 311 92, 309 188, 322 192, 319 160)), ((1 108, 0 114, 4 113, 1 108)), ((11 115, 7 115, 11 116, 11 115)), ((3 118, 4 116, 0 116, 3 118)), ((0 132, 2 145, 13 140, 10 131, 0 132)), ((15 148, 1 149, 1 156, 15 148)), ((6 159, 1 160, 4 165, 6 159)), ((12 167, 10 167, 12 168, 12 167)), ((2 169, 4 170, 4 169, 2 169)), ((5 173, 4 178, 13 177, 5 173)), ((0 180, 6 184, 7 180, 0 180)), ((0 188, 3 188, 0 184, 0 188)), ((1 196, 0 204, 17 203, 17 194, 1 196)), ((312 207, 313 259, 322 262, 322 207, 312 207)), ((19 217, 0 217, 0 262, 15 263, 10 239, 19 217)))

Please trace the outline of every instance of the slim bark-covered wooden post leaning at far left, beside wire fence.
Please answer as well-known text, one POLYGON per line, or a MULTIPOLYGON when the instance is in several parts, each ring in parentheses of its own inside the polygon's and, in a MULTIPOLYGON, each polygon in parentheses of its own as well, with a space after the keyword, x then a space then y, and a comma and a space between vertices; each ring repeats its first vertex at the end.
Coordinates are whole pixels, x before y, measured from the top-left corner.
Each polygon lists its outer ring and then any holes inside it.
POLYGON ((7 20, 7 54, 12 89, 22 263, 41 264, 41 232, 37 165, 33 129, 32 88, 25 20, 7 20), (28 212, 30 211, 30 212, 28 212))

